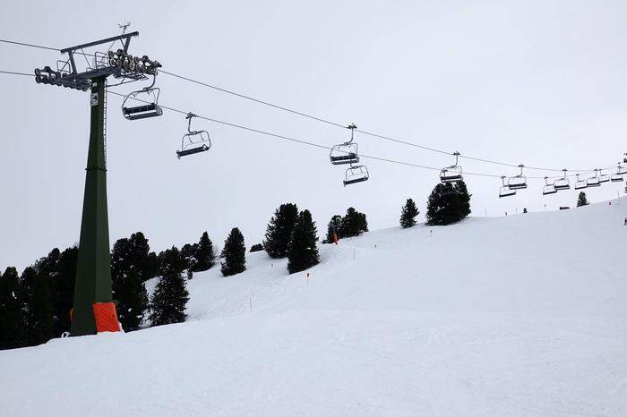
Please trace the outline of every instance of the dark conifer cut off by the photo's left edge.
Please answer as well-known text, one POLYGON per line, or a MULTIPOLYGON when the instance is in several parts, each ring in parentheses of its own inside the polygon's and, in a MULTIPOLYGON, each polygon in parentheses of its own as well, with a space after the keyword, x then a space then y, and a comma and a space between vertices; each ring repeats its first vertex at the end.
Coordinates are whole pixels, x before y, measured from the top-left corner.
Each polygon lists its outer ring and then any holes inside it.
POLYGON ((23 292, 17 269, 0 274, 0 350, 27 345, 23 292))

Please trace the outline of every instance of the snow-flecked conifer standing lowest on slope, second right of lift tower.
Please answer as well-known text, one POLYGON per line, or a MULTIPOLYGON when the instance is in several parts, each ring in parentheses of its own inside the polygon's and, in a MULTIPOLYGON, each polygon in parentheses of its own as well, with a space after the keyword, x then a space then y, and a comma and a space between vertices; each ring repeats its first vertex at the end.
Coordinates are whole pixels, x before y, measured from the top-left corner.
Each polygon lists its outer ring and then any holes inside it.
POLYGON ((189 293, 183 271, 185 265, 181 261, 181 254, 172 247, 159 254, 160 274, 159 284, 150 300, 150 321, 152 326, 181 323, 185 321, 185 306, 189 301, 189 293))

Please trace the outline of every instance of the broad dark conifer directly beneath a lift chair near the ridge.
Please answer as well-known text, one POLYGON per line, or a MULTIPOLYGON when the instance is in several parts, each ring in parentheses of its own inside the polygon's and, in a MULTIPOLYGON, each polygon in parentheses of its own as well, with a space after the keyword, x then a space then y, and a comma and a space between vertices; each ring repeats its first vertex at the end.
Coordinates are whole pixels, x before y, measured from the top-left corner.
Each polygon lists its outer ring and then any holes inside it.
POLYGON ((426 224, 446 226, 459 222, 470 214, 470 197, 466 183, 460 181, 452 185, 452 193, 442 192, 442 183, 431 191, 426 209, 426 224))

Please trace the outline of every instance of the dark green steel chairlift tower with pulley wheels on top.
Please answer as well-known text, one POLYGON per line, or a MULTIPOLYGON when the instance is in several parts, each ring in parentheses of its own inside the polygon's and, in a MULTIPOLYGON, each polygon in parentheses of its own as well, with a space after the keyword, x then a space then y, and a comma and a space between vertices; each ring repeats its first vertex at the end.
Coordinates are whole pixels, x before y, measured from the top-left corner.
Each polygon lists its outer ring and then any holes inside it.
POLYGON ((116 85, 145 80, 156 75, 161 66, 148 56, 128 55, 131 38, 139 32, 126 33, 61 50, 68 59, 57 61, 56 70, 49 66, 35 70, 35 81, 81 91, 90 90, 90 144, 87 156, 85 193, 82 203, 81 241, 74 285, 71 336, 96 333, 93 304, 111 302, 111 255, 109 251, 107 213, 107 78, 116 85), (85 49, 119 41, 114 52, 85 53, 85 49), (78 55, 78 57, 77 57, 78 55), (82 59, 84 58, 84 60, 82 59), (87 63, 79 70, 77 61, 87 63))

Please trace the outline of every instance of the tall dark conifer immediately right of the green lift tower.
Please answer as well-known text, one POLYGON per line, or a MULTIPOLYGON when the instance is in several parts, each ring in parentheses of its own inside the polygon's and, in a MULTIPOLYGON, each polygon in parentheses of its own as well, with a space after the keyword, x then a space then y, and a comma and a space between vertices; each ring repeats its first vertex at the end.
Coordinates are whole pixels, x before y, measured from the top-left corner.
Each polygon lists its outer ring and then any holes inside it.
POLYGON ((137 330, 148 310, 143 273, 150 247, 143 234, 119 239, 111 252, 111 280, 117 319, 125 331, 137 330))

